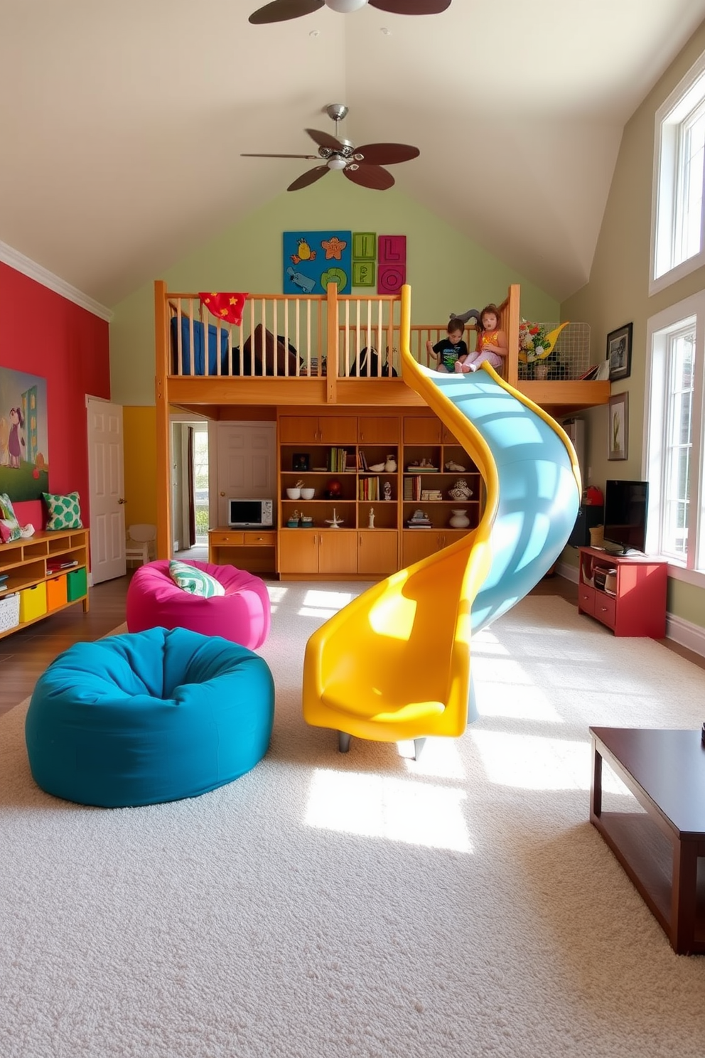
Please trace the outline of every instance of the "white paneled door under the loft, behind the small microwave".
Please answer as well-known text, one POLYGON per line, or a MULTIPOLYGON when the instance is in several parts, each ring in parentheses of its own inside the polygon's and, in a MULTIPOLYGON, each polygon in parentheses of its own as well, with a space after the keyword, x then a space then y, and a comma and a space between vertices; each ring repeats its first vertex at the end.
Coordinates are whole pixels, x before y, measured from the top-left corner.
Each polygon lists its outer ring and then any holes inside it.
MULTIPOLYGON (((277 424, 219 422, 217 445, 217 525, 226 526, 228 498, 276 498, 277 424)), ((212 524, 212 493, 210 515, 212 524)))

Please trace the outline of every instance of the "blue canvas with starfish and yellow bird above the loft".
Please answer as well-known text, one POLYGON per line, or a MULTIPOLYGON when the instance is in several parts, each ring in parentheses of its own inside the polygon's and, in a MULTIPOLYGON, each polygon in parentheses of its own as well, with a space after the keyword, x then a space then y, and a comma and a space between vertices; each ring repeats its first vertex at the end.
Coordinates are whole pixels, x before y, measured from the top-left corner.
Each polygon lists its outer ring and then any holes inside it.
POLYGON ((352 232, 284 232, 284 294, 324 294, 335 282, 349 294, 352 278, 352 232))

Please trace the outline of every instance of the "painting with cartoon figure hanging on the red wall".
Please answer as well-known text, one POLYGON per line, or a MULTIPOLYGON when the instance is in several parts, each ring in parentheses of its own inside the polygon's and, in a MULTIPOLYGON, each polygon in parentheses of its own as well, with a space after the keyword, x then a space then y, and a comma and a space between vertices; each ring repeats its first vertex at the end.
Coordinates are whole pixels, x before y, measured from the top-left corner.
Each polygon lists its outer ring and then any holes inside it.
POLYGON ((0 367, 0 492, 15 501, 49 492, 47 379, 0 367))

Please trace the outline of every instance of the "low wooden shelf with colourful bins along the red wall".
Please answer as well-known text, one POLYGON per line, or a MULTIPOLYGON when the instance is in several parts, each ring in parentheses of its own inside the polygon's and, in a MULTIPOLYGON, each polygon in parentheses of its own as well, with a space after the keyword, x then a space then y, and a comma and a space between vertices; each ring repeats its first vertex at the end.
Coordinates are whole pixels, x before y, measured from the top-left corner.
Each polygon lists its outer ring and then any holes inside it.
POLYGON ((0 545, 0 637, 74 603, 88 612, 88 541, 66 529, 0 545))

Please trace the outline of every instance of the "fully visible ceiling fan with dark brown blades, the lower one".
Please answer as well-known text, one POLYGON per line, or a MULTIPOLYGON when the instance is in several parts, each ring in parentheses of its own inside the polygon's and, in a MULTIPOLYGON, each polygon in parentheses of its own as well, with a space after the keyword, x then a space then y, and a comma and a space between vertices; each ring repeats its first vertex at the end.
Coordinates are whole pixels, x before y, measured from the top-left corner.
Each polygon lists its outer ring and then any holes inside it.
MULTIPOLYGON (((278 3, 280 0, 275 2, 278 3)), ((335 122, 335 135, 320 132, 318 129, 304 130, 314 143, 318 144, 317 154, 241 154, 240 157, 304 158, 312 162, 323 159, 322 165, 315 165, 313 169, 297 177, 286 188, 287 191, 298 191, 301 187, 308 187, 309 184, 324 177, 329 169, 342 169, 344 177, 352 180, 354 184, 384 191, 393 185, 394 178, 391 172, 383 169, 383 165, 409 162, 421 153, 418 147, 411 147, 407 143, 366 143, 361 147, 355 147, 350 140, 344 140, 338 135, 338 124, 348 113, 345 104, 331 103, 326 107, 326 113, 335 122)))

